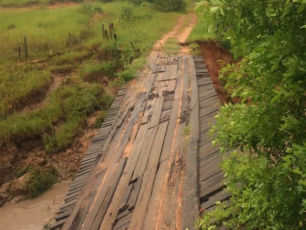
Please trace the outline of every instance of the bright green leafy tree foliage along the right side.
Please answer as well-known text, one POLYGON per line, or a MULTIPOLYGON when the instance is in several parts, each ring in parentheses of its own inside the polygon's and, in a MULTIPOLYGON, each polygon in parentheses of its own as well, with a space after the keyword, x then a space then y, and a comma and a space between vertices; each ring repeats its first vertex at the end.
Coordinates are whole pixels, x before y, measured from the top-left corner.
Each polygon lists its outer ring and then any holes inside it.
POLYGON ((231 150, 223 168, 232 205, 200 226, 214 229, 215 218, 231 229, 305 229, 306 0, 202 0, 196 8, 242 57, 220 75, 240 102, 224 106, 213 128, 231 150))

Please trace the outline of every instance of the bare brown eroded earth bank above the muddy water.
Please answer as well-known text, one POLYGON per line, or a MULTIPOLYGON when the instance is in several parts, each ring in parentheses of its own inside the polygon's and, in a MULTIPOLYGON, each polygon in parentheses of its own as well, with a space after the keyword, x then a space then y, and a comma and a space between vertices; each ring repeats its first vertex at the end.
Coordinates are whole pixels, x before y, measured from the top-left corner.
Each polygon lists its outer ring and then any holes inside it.
POLYGON ((76 137, 71 147, 59 153, 48 153, 43 148, 40 136, 18 139, 10 145, 0 148, 0 206, 14 196, 22 194, 18 186, 15 174, 25 166, 33 165, 47 168, 53 166, 58 169, 58 181, 63 182, 74 178, 83 156, 91 143, 91 139, 97 134, 94 128, 98 112, 93 113, 87 121, 82 134, 76 137), (2 189, 1 189, 2 188, 2 189), (7 194, 7 189, 10 194, 7 194))

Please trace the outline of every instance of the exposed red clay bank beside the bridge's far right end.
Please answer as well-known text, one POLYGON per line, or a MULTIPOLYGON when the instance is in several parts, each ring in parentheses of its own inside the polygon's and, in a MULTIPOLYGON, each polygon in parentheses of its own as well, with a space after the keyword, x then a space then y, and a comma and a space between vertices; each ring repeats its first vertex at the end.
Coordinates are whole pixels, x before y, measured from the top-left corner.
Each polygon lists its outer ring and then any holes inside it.
POLYGON ((229 93, 226 92, 218 77, 221 68, 226 66, 228 63, 234 63, 232 54, 227 49, 223 48, 220 44, 214 41, 201 42, 199 45, 201 54, 207 65, 209 75, 212 79, 220 100, 223 103, 235 101, 234 99, 230 98, 229 93))

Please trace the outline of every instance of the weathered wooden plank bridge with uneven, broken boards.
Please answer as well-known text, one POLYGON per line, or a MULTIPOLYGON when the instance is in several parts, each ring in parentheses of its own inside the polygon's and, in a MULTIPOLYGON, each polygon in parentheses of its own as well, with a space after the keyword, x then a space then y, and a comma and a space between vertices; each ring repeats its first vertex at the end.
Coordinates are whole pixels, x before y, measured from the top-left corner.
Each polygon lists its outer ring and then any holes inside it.
POLYGON ((152 53, 118 92, 50 230, 189 230, 228 200, 202 57, 152 53))

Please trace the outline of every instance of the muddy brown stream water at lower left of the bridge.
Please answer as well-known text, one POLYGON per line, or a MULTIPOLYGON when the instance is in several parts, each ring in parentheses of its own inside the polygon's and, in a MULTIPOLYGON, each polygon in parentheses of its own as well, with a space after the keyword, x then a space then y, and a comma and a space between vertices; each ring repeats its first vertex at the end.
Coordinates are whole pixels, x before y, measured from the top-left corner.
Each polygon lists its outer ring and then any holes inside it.
POLYGON ((64 203, 71 182, 54 184, 34 199, 0 207, 0 230, 41 230, 64 203))

